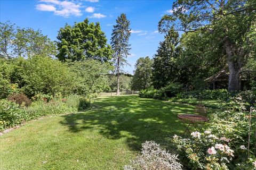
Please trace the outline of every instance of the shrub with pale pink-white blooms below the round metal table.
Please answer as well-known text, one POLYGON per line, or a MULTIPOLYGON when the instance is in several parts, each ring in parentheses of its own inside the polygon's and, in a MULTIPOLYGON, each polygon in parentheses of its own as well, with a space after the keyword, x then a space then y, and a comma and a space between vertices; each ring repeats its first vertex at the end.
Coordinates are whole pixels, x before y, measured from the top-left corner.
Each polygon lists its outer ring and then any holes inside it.
MULTIPOLYGON (((191 138, 174 135, 173 142, 188 166, 193 169, 228 169, 227 164, 234 158, 234 150, 229 147, 230 139, 217 137, 207 130, 192 132, 191 138)), ((244 151, 241 149, 241 151, 244 151)))

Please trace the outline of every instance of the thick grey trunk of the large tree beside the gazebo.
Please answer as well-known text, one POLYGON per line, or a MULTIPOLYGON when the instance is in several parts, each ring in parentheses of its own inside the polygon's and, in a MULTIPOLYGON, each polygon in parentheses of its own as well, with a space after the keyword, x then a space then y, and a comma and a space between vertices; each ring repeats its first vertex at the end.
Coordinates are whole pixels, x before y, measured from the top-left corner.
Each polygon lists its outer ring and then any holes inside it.
POLYGON ((243 52, 235 54, 236 49, 230 43, 228 38, 225 39, 225 48, 228 57, 228 91, 241 90, 241 71, 243 69, 243 52))

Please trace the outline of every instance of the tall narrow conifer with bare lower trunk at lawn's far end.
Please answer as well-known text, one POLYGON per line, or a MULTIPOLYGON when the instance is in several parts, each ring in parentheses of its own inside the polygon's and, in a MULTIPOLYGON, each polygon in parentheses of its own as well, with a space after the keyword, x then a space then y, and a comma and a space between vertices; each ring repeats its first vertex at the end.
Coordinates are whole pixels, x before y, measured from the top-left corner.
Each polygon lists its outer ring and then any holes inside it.
POLYGON ((120 69, 124 64, 128 64, 125 58, 130 55, 129 50, 131 49, 129 44, 129 37, 131 36, 130 21, 127 20, 125 14, 118 16, 111 36, 111 46, 114 50, 113 56, 117 71, 116 95, 119 95, 120 69))

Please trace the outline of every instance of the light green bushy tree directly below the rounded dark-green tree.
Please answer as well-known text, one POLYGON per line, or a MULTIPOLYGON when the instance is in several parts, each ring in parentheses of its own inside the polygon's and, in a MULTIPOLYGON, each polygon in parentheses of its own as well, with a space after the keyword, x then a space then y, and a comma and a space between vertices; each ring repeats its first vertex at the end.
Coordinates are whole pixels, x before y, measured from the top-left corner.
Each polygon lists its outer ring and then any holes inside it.
POLYGON ((76 75, 75 93, 88 96, 108 88, 108 65, 96 60, 70 63, 70 69, 76 75))

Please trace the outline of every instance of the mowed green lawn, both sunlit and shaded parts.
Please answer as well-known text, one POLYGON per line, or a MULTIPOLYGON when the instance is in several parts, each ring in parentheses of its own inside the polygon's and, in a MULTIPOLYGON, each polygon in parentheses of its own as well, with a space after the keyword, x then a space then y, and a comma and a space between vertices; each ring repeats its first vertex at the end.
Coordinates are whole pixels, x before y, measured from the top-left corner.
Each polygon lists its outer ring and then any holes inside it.
POLYGON ((30 121, 0 137, 1 169, 122 169, 154 140, 185 129, 194 106, 138 96, 102 97, 90 111, 30 121))

